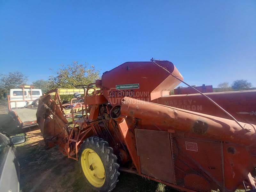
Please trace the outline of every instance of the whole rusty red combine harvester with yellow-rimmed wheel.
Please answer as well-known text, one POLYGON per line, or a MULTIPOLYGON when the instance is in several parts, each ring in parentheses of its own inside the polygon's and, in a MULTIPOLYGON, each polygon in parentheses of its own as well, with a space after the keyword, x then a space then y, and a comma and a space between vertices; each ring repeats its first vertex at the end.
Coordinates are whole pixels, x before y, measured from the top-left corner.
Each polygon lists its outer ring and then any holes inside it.
POLYGON ((112 191, 119 171, 181 191, 255 191, 256 90, 170 95, 180 82, 169 61, 123 63, 87 85, 73 126, 42 96, 46 146, 79 161, 96 191, 112 191))

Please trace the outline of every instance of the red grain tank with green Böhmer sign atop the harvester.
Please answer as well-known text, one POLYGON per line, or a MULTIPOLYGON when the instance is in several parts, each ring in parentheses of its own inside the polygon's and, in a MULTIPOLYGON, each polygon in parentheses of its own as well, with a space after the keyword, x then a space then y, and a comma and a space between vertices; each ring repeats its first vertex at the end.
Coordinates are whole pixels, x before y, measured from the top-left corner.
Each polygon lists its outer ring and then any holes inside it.
MULTIPOLYGON (((183 79, 172 62, 161 61, 160 63, 173 75, 183 79)), ((101 79, 101 85, 97 84, 97 86, 104 87, 103 95, 112 106, 120 105, 125 96, 150 101, 169 95, 168 90, 180 84, 179 80, 163 72, 163 69, 154 65, 152 61, 125 62, 103 73, 101 79)))

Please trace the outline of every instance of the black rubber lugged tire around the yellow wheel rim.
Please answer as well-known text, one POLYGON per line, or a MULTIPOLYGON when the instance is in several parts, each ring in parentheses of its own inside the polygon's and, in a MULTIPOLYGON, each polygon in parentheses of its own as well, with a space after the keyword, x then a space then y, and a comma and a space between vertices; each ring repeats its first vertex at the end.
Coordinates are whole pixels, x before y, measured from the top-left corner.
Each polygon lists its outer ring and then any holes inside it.
MULTIPOLYGON (((117 157, 113 152, 113 148, 109 147, 107 141, 99 137, 90 137, 86 139, 84 143, 80 146, 78 152, 80 165, 82 153, 86 148, 94 150, 100 157, 105 169, 105 183, 102 187, 97 188, 93 186, 84 175, 85 180, 94 191, 112 191, 116 187, 116 183, 118 182, 118 176, 120 175, 120 172, 118 172, 119 164, 117 163, 117 157)), ((83 172, 82 165, 80 166, 80 168, 83 172)))

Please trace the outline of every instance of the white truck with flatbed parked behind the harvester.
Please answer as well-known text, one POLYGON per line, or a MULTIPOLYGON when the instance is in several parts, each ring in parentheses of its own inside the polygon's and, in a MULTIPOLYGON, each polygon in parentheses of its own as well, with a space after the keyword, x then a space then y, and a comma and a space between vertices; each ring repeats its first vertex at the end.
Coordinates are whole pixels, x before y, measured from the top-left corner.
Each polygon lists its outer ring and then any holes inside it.
POLYGON ((34 89, 34 86, 23 85, 19 89, 10 89, 10 95, 7 96, 9 115, 19 127, 37 125, 36 110, 40 96, 42 90, 34 89))

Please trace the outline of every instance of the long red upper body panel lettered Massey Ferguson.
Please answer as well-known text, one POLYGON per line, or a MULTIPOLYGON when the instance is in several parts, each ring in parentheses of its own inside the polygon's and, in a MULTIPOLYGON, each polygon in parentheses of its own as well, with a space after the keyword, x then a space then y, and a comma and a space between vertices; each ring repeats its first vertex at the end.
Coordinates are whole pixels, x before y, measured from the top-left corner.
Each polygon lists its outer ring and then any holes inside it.
MULTIPOLYGON (((236 120, 255 124, 256 90, 213 92, 205 93, 205 95, 227 110, 236 120)), ((230 116, 199 93, 191 95, 170 95, 152 100, 151 102, 231 119, 230 116)))

